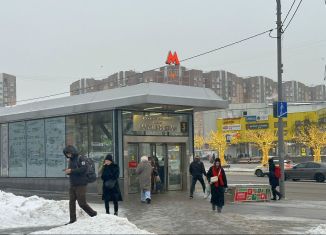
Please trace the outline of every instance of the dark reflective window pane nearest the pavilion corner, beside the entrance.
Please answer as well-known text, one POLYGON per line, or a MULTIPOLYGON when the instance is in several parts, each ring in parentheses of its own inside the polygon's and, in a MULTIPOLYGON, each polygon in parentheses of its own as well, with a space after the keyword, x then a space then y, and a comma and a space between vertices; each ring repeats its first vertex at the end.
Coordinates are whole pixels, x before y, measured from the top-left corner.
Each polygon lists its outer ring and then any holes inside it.
POLYGON ((89 157, 94 159, 96 171, 108 153, 113 153, 112 112, 88 114, 89 157))

